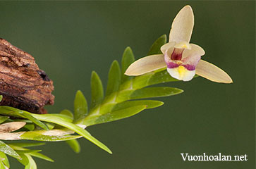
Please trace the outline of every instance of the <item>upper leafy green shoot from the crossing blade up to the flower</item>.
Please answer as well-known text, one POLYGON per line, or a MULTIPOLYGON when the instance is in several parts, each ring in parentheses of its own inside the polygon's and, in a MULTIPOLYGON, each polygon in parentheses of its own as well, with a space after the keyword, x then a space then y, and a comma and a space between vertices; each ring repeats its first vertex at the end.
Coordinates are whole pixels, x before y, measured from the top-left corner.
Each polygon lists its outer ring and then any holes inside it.
MULTIPOLYGON (((161 52, 159 48, 164 43, 166 43, 166 35, 159 37, 159 39, 154 42, 149 53, 155 54, 154 52, 161 52)), ((155 108, 164 104, 161 101, 138 99, 171 96, 183 92, 183 90, 173 87, 148 87, 153 84, 177 81, 166 72, 166 68, 155 70, 154 72, 138 77, 128 77, 124 75, 126 68, 128 68, 130 63, 133 63, 133 61, 133 51, 130 47, 127 47, 123 53, 121 68, 118 61, 114 61, 111 64, 105 97, 99 76, 97 73, 92 72, 91 108, 89 113, 87 113, 86 108, 86 111, 81 111, 80 115, 77 115, 84 117, 76 120, 77 124, 90 126, 119 120, 121 118, 127 118, 147 108, 155 108)), ((80 97, 83 97, 83 94, 79 91, 76 98, 80 97)), ((84 97, 83 100, 85 100, 84 97)), ((85 102, 87 101, 85 100, 85 102)))

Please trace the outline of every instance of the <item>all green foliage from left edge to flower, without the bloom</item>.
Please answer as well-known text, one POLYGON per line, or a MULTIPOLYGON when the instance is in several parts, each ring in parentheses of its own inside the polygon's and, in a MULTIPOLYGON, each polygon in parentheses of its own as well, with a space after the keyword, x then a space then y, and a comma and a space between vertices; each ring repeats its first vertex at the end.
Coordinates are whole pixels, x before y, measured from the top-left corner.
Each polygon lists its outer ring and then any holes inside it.
MULTIPOLYGON (((160 54, 160 47, 163 44, 166 44, 166 35, 162 35, 154 42, 148 54, 160 54)), ((76 139, 84 137, 111 154, 111 150, 95 137, 92 137, 85 130, 85 127, 128 118, 145 109, 156 108, 164 104, 162 101, 148 98, 172 96, 183 92, 182 89, 174 87, 152 87, 154 84, 177 81, 167 73, 166 68, 137 77, 124 75, 133 61, 135 61, 133 51, 130 47, 127 47, 123 52, 121 66, 118 61, 114 61, 111 64, 105 92, 99 75, 93 71, 91 76, 90 106, 88 106, 83 93, 78 91, 75 94, 73 113, 63 110, 60 113, 33 114, 17 108, 0 106, 0 132, 1 130, 5 131, 11 125, 14 128, 9 132, 1 132, 0 139, 27 139, 41 142, 66 141, 78 153, 80 145, 76 139), (20 128, 20 125, 24 126, 20 128)), ((9 168, 6 154, 17 158, 20 163, 25 165, 25 168, 36 168, 36 163, 32 156, 52 161, 51 158, 40 154, 39 150, 24 148, 38 145, 40 144, 6 144, 0 141, 0 168, 9 168)))

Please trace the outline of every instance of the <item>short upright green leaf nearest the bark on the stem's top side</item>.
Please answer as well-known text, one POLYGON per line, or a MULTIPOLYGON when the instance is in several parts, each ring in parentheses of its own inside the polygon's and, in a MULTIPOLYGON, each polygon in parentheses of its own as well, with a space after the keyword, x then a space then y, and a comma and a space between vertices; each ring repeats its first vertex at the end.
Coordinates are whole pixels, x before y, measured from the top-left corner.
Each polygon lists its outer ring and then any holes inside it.
POLYGON ((85 118, 87 113, 87 101, 85 99, 85 96, 83 96, 83 93, 80 90, 78 90, 78 92, 76 92, 75 94, 74 101, 74 122, 82 118, 85 118))

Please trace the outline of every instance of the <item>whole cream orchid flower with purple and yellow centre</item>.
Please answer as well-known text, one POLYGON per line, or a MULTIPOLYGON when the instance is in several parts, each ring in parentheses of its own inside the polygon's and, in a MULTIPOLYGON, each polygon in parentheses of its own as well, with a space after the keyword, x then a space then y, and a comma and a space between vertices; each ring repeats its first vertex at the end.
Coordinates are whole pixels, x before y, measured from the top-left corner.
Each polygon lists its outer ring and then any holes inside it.
POLYGON ((163 54, 140 58, 128 67, 125 74, 137 76, 167 67, 171 77, 178 80, 189 81, 197 74, 213 82, 233 82, 224 70, 201 60, 204 49, 190 44, 193 27, 193 10, 191 6, 184 6, 173 20, 169 42, 161 46, 163 54))

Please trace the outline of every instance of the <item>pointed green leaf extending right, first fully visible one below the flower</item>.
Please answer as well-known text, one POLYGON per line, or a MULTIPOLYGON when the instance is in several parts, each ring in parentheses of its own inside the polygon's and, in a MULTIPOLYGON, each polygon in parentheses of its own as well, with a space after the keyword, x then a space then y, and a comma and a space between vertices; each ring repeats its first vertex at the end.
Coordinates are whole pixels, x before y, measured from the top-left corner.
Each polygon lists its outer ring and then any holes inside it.
POLYGON ((135 90, 130 95, 130 99, 144 99, 152 97, 161 97, 161 96, 173 96, 175 94, 181 94, 182 89, 177 89, 173 87, 147 87, 143 89, 135 90))

